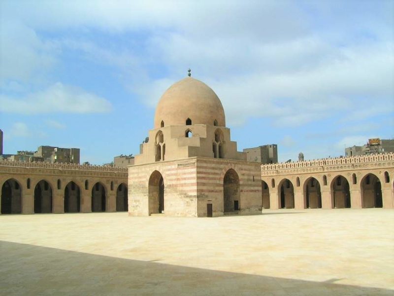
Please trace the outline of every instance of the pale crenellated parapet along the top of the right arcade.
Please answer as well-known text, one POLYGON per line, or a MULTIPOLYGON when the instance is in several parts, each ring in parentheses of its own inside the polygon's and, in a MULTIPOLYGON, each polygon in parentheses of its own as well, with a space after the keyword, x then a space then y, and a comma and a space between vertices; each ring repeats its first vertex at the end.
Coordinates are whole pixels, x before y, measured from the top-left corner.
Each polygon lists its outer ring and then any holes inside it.
POLYGON ((394 153, 379 153, 369 155, 358 155, 349 157, 336 157, 336 158, 322 158, 307 161, 296 161, 296 162, 281 162, 272 164, 262 164, 262 171, 275 171, 283 169, 295 169, 295 168, 308 168, 325 165, 338 165, 338 164, 353 164, 353 163, 365 163, 365 162, 376 162, 394 160, 394 153))

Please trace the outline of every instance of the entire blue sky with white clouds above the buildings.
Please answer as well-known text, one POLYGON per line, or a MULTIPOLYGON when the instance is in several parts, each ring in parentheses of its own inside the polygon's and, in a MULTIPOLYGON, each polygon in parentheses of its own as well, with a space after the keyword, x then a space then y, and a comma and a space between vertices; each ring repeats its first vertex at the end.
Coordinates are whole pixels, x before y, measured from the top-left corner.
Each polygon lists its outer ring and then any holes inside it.
POLYGON ((394 138, 393 0, 1 0, 3 153, 138 154, 189 68, 239 151, 317 159, 394 138))

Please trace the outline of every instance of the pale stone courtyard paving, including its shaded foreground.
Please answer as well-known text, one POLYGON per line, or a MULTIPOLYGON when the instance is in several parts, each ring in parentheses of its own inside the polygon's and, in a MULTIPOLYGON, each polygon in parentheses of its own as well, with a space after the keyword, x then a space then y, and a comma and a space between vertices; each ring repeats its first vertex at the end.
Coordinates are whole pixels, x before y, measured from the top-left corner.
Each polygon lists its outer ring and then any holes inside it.
POLYGON ((0 295, 394 295, 394 210, 0 216, 0 295))

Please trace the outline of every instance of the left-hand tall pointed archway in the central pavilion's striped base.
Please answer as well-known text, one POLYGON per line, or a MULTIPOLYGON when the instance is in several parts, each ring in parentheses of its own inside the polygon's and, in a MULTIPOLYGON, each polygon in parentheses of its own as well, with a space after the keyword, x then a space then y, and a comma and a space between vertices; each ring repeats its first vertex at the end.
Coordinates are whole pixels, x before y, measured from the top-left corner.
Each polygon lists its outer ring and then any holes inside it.
POLYGON ((149 215, 164 213, 164 179, 159 171, 154 171, 149 178, 149 215))

